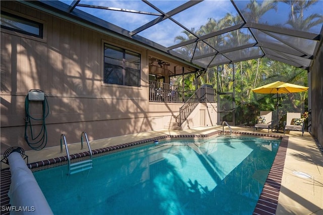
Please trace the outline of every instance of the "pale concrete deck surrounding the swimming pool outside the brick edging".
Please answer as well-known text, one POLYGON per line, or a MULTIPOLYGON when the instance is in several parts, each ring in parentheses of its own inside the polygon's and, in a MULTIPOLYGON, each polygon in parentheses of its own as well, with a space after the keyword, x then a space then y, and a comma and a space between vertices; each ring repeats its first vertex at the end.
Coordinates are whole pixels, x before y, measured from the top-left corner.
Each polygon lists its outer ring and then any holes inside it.
MULTIPOLYGON (((227 130, 228 127, 225 127, 227 130)), ((91 149, 101 149, 132 141, 158 137, 162 135, 192 135, 208 134, 222 130, 222 126, 198 127, 188 130, 157 130, 131 135, 90 141, 91 149)), ((234 131, 253 132, 250 127, 232 127, 234 131)), ((256 133, 267 134, 266 129, 258 129, 256 133)), ((270 134, 277 134, 270 132, 270 134)), ((283 135, 282 133, 279 133, 283 135)), ((299 131, 290 131, 288 148, 283 169, 281 189, 279 192, 276 214, 323 214, 323 156, 315 144, 312 136, 305 132, 304 136, 299 131)), ((87 151, 80 150, 80 143, 69 144, 70 154, 87 151)), ((63 147, 65 148, 65 147, 63 147)), ((41 151, 26 151, 29 163, 58 158, 66 155, 60 153, 60 146, 43 149, 41 151)), ((3 165, 5 168, 5 165, 3 165)), ((268 214, 268 213, 262 213, 268 214)))

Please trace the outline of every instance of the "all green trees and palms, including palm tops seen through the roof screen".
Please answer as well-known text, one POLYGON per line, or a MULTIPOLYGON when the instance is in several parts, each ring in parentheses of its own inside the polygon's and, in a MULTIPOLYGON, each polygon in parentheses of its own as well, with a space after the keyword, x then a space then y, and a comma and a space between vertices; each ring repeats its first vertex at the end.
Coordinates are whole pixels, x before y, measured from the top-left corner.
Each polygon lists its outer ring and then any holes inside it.
MULTIPOLYGON (((286 1, 285 3, 292 6, 290 7, 292 10, 287 12, 290 17, 290 20, 286 22, 287 25, 295 29, 308 30, 323 22, 317 14, 308 17, 304 16, 303 12, 307 7, 315 4, 315 1, 286 1)), ((278 10, 277 1, 258 2, 252 0, 242 12, 247 20, 257 23, 270 10, 278 10)), ((220 20, 209 18, 205 25, 202 25, 199 29, 191 29, 191 31, 196 35, 205 35, 239 23, 241 23, 241 18, 238 15, 227 14, 220 20)), ((175 40, 184 42, 195 38, 188 31, 183 31, 182 33, 185 37, 178 36, 175 40)), ((211 37, 207 43, 211 47, 226 47, 228 45, 237 47, 241 44, 247 44, 250 35, 241 36, 241 34, 243 32, 231 31, 221 36, 211 37)), ((185 53, 190 57, 193 57, 193 54, 203 55, 209 53, 209 46, 206 43, 198 42, 196 45, 196 49, 191 45, 181 47, 177 51, 185 53)), ((207 68, 206 72, 199 76, 198 80, 195 80, 193 75, 186 75, 184 77, 185 90, 194 90, 203 83, 208 83, 216 88, 219 93, 234 92, 236 125, 253 125, 255 123, 255 116, 259 114, 260 110, 277 111, 276 94, 257 94, 251 91, 254 88, 275 81, 307 86, 307 71, 268 58, 258 58, 207 68)), ((177 79, 177 83, 182 86, 183 80, 177 79)), ((278 118, 281 126, 284 117, 286 117, 286 112, 304 113, 304 111, 307 111, 307 95, 307 92, 302 92, 279 96, 278 118)), ((230 101, 224 101, 223 104, 218 105, 220 108, 225 108, 227 103, 229 104, 230 101)), ((277 118, 277 114, 274 115, 277 118)))

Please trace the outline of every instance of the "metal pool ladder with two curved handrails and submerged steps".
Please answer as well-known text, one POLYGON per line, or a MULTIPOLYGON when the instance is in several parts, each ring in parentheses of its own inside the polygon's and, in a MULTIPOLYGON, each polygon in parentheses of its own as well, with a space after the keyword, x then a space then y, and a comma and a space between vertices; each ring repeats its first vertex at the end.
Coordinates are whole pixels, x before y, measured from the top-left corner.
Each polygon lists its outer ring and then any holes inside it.
POLYGON ((64 134, 61 135, 61 153, 63 153, 63 141, 64 141, 67 159, 68 159, 68 168, 69 168, 68 175, 72 175, 72 174, 75 174, 78 172, 92 169, 92 158, 93 158, 92 150, 90 147, 89 140, 87 138, 87 134, 84 131, 81 134, 81 150, 83 149, 83 136, 85 137, 87 147, 89 148, 90 159, 71 163, 70 153, 69 153, 69 149, 67 147, 67 142, 66 142, 66 136, 64 134))

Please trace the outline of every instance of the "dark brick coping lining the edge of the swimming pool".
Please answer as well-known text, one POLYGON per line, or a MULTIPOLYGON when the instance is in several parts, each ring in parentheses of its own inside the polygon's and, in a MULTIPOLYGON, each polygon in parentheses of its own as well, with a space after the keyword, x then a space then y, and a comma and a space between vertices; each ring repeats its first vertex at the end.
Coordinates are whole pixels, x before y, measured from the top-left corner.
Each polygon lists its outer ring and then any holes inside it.
MULTIPOLYGON (((116 146, 95 149, 92 150, 93 155, 105 154, 121 149, 126 149, 128 147, 133 147, 137 145, 147 144, 149 142, 163 140, 163 139, 176 139, 176 138, 209 138, 218 134, 223 133, 223 131, 213 131, 207 134, 176 134, 176 135, 161 135, 157 137, 142 139, 138 141, 128 142, 126 144, 120 144, 116 146)), ((224 131, 224 133, 230 133, 230 131, 224 131)), ((275 157, 272 168, 267 176, 262 192, 259 196, 258 202, 255 206, 253 214, 275 214, 277 205, 278 205, 278 196, 281 187, 283 169, 285 164, 285 157, 288 145, 288 136, 280 134, 265 134, 265 133, 252 133, 252 132, 243 132, 243 131, 232 131, 235 135, 250 135, 250 136, 261 136, 261 137, 270 137, 270 138, 282 138, 280 147, 278 149, 277 155, 275 157)), ((70 155, 71 160, 81 159, 90 156, 89 152, 82 152, 70 155)), ((27 164, 27 167, 31 170, 51 166, 55 164, 65 164, 68 161, 67 156, 62 156, 58 158, 52 158, 48 160, 33 162, 27 164)), ((10 169, 1 170, 1 206, 10 206, 10 198, 8 192, 11 184, 11 173, 10 169)), ((9 214, 7 211, 0 211, 0 214, 9 214)))

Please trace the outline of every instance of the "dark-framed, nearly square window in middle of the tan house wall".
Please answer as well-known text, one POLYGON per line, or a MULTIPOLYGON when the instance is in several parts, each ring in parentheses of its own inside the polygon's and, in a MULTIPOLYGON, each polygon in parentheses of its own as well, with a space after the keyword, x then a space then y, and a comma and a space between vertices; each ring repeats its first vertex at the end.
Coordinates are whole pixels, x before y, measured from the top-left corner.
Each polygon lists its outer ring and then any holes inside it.
POLYGON ((140 54, 104 44, 103 83, 140 87, 140 54))

